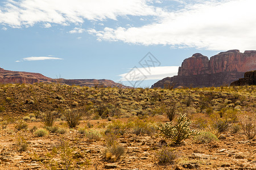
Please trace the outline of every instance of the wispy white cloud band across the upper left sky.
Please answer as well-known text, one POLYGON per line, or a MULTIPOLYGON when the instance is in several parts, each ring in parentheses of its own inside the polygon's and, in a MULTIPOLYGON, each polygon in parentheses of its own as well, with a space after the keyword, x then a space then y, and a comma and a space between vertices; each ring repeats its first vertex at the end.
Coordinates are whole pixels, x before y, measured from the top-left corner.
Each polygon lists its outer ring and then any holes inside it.
POLYGON ((36 23, 84 23, 84 20, 117 20, 118 16, 159 15, 151 0, 20 0, 3 2, 0 24, 14 28, 36 23))

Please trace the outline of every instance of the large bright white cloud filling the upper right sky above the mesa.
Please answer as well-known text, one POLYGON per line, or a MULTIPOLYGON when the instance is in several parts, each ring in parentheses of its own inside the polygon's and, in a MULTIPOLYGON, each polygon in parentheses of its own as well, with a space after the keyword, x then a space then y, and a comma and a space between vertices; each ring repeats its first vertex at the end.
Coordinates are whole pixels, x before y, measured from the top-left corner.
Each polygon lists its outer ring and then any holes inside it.
MULTIPOLYGON (((183 1, 180 1, 181 3, 183 1)), ((142 27, 89 29, 98 40, 208 50, 256 48, 256 1, 194 1, 142 27)), ((160 15, 159 15, 160 16, 160 15)))

